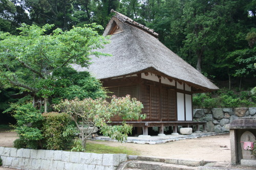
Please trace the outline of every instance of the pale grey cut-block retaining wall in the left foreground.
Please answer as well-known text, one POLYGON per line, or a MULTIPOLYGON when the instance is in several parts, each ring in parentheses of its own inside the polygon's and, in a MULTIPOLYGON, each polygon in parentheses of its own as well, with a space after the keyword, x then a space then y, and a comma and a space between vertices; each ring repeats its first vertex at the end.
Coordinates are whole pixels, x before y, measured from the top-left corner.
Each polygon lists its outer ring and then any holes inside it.
POLYGON ((114 170, 127 160, 126 154, 94 154, 0 147, 3 166, 19 169, 114 170))

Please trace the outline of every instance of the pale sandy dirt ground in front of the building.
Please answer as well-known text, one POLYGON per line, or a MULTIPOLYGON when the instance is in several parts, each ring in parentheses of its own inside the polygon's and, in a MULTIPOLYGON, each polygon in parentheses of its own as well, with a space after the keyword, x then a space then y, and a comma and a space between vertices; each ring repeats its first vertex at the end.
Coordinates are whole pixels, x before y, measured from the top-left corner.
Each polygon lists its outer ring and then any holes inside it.
MULTIPOLYGON (((14 132, 0 131, 0 146, 13 147, 17 138, 14 132)), ((140 153, 141 156, 155 156, 170 159, 208 160, 230 162, 229 134, 185 139, 162 144, 136 144, 111 141, 92 141, 111 146, 123 146, 140 153), (226 146, 227 148, 223 148, 226 146)))

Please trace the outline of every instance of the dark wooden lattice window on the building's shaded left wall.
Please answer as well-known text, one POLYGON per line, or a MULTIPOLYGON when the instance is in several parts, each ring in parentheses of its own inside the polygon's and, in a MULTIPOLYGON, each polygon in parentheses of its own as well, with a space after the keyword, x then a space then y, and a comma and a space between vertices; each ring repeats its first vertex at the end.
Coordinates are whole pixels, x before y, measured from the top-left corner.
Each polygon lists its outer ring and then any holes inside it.
MULTIPOLYGON (((120 87, 109 87, 108 90, 110 91, 107 93, 108 96, 116 95, 119 97, 125 97, 125 95, 130 94, 131 98, 136 98, 136 86, 120 86, 120 87)), ((111 99, 107 99, 108 102, 111 99)))

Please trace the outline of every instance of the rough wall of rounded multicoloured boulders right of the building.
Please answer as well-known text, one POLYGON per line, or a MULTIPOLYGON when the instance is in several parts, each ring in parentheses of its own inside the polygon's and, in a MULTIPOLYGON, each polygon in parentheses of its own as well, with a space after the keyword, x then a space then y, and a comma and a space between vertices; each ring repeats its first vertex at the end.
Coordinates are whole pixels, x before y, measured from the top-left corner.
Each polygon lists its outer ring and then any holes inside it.
POLYGON ((194 109, 194 120, 207 122, 208 132, 229 132, 228 126, 239 117, 256 118, 256 107, 194 109))

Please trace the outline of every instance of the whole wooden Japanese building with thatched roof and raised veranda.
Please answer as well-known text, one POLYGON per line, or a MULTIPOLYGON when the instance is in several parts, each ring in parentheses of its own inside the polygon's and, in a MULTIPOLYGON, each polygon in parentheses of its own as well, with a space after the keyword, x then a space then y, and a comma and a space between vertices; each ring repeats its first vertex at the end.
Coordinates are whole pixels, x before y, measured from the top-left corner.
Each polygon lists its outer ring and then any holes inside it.
MULTIPOLYGON (((206 122, 193 122, 193 93, 219 89, 194 67, 169 50, 158 39, 158 34, 116 11, 103 33, 111 42, 101 53, 111 57, 92 58, 89 71, 100 79, 116 96, 130 94, 142 102, 146 119, 131 121, 143 135, 148 127, 205 128, 206 122), (141 128, 142 127, 142 128, 141 128)), ((76 68, 82 70, 82 68, 76 68)), ((121 124, 114 117, 112 124, 121 124)))

